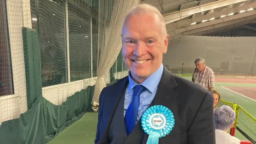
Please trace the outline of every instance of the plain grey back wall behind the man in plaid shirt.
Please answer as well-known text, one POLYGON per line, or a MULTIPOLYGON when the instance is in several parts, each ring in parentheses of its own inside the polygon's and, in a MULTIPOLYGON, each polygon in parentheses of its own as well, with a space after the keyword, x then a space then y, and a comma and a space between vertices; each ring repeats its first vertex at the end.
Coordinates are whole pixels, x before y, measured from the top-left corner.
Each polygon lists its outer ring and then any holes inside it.
POLYGON ((194 60, 204 57, 206 65, 215 72, 222 69, 247 72, 250 64, 254 64, 253 56, 256 47, 255 37, 207 37, 182 36, 168 45, 163 64, 168 68, 195 68, 194 60), (228 66, 221 66, 224 62, 228 66))

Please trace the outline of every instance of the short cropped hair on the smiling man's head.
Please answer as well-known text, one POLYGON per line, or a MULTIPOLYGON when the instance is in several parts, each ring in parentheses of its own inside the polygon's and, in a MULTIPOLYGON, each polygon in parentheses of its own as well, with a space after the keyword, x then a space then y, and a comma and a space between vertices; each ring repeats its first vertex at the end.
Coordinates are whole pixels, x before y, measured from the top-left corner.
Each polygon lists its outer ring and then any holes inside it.
POLYGON ((127 19, 130 18, 130 16, 137 15, 137 14, 152 14, 152 15, 155 14, 162 24, 163 37, 164 39, 166 38, 167 31, 164 23, 164 17, 156 7, 150 4, 140 4, 138 6, 133 7, 124 18, 124 24, 127 21, 127 19))

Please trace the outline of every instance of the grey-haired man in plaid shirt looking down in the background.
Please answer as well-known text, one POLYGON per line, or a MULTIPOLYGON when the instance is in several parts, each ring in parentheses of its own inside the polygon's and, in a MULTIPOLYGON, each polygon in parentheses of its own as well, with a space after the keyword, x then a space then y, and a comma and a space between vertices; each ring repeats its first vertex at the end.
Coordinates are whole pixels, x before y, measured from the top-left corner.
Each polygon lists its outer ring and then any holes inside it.
POLYGON ((214 72, 205 65, 204 58, 196 58, 196 68, 192 76, 192 82, 199 84, 207 90, 214 88, 214 72))

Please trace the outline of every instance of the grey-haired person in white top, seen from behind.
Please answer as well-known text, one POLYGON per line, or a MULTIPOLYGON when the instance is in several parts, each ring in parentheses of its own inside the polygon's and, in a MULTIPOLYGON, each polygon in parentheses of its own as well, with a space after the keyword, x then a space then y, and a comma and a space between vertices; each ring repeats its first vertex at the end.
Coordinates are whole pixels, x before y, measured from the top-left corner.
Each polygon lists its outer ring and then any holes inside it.
POLYGON ((240 140, 228 134, 235 124, 236 113, 229 106, 221 106, 214 111, 216 144, 240 144, 240 140))

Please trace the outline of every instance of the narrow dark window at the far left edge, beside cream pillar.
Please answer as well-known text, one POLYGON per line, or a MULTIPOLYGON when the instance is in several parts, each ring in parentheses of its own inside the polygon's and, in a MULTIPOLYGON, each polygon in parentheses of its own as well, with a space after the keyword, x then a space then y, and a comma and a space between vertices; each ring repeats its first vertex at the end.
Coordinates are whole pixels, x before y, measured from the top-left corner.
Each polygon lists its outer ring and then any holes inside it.
POLYGON ((5 0, 0 0, 0 96, 14 94, 5 0))

